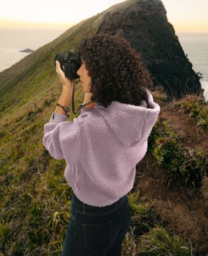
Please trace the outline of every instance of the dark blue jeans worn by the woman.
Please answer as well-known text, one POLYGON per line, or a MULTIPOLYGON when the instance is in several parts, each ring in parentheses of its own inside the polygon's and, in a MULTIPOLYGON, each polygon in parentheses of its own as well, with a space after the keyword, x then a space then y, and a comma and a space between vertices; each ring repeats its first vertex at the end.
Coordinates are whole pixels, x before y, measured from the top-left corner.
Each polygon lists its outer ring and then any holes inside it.
POLYGON ((122 241, 131 222, 127 195, 105 207, 71 198, 62 256, 121 256, 122 241))

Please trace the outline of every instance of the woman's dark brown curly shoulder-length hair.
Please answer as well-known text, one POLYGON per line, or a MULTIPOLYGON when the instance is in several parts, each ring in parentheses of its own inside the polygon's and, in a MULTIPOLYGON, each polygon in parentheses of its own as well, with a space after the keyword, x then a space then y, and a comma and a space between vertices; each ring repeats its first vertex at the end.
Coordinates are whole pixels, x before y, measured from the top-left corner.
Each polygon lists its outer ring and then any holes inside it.
POLYGON ((91 101, 105 106, 118 101, 139 105, 152 86, 150 73, 130 43, 116 35, 99 34, 81 40, 76 50, 91 77, 91 101))

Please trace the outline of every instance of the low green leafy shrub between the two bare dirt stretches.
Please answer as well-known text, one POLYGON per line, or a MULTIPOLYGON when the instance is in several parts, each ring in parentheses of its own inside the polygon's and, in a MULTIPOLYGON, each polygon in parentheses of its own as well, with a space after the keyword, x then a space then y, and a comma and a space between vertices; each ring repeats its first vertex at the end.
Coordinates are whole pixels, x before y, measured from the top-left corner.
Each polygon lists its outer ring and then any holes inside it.
POLYGON ((208 169, 208 153, 201 148, 186 148, 167 137, 158 138, 156 143, 154 156, 158 165, 167 170, 170 180, 182 178, 186 184, 202 180, 208 169))

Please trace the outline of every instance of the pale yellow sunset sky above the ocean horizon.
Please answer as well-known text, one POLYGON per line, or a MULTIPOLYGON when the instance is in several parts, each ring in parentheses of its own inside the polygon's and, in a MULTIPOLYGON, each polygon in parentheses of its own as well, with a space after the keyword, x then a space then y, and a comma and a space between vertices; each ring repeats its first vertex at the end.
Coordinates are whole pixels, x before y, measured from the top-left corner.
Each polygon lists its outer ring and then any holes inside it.
MULTIPOLYGON (((90 18, 119 0, 7 0, 0 5, 1 26, 65 28, 90 18)), ((176 32, 208 33, 208 0, 162 0, 176 32)))

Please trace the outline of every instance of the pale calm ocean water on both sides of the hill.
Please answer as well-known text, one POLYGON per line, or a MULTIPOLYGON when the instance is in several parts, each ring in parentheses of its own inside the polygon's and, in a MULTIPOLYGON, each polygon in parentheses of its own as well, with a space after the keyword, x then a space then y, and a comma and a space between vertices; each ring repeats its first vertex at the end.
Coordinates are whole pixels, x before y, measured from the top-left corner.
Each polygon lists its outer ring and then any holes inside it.
MULTIPOLYGON (((30 48, 36 50, 59 37, 66 29, 28 29, 0 28, 0 72, 11 67, 30 53, 19 52, 30 48)), ((176 33, 180 44, 195 72, 202 73, 200 79, 208 99, 208 34, 176 33)))

